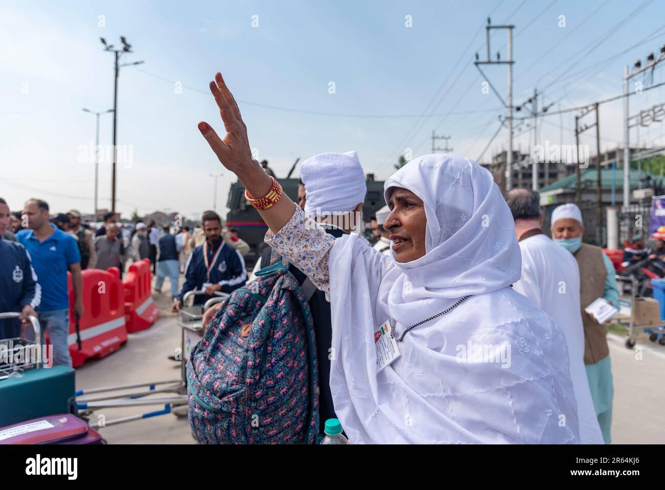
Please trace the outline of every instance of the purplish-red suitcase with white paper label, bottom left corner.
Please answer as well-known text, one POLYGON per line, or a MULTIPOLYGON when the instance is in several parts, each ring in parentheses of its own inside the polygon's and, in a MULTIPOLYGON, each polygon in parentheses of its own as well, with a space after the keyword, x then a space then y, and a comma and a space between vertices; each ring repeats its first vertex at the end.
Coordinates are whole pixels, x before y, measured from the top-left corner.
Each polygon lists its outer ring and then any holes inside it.
POLYGON ((100 444, 102 437, 71 413, 47 415, 0 428, 0 444, 100 444))

